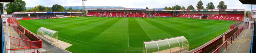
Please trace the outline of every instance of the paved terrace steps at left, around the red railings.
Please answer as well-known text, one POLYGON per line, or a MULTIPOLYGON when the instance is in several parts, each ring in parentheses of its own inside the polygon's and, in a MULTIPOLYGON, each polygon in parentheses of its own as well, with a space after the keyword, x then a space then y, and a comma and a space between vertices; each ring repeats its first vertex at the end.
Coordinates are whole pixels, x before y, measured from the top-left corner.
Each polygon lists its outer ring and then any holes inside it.
MULTIPOLYGON (((10 33, 10 36, 20 38, 13 27, 4 26, 3 28, 4 28, 4 32, 9 32, 10 33)), ((14 43, 14 44, 19 44, 19 39, 15 39, 15 38, 10 37, 10 42, 14 43)), ((23 41, 20 42, 20 43, 21 43, 21 45, 26 46, 23 41)), ((57 47, 45 42, 44 40, 43 40, 42 46, 43 46, 42 48, 35 49, 36 53, 37 53, 37 50, 39 50, 40 52, 47 51, 47 50, 52 50, 51 53, 68 53, 68 52, 66 52, 66 51, 64 51, 60 48, 57 48, 57 47)), ((20 47, 20 46, 16 46, 16 45, 11 45, 10 47, 11 47, 11 49, 24 48, 24 47, 20 47)), ((13 52, 14 51, 11 50, 11 53, 13 53, 13 52)), ((26 49, 26 53, 29 53, 29 52, 34 52, 34 49, 26 49)), ((24 49, 15 50, 15 53, 24 53, 24 49)))

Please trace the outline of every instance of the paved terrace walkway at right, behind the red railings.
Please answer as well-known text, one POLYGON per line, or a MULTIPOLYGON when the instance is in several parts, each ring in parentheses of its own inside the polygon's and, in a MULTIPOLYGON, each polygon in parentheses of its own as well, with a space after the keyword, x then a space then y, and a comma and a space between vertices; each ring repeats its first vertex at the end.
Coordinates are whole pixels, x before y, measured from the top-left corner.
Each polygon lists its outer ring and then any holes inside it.
MULTIPOLYGON (((242 25, 245 25, 243 23, 242 25)), ((252 30, 253 29, 244 29, 237 38, 227 43, 227 50, 225 50, 225 45, 222 46, 222 49, 219 49, 221 53, 249 53, 251 48, 251 39, 252 39, 252 30), (224 48, 224 49, 223 49, 224 48)))

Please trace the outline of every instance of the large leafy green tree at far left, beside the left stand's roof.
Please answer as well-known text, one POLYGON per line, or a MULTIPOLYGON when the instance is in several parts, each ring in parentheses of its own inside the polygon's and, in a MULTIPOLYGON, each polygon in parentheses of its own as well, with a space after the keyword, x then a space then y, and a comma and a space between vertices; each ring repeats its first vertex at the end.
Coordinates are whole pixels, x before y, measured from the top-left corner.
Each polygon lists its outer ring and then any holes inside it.
POLYGON ((22 0, 15 0, 5 5, 5 7, 7 8, 6 10, 8 14, 12 14, 12 12, 26 11, 27 9, 25 6, 26 6, 26 3, 25 1, 22 1, 22 0))

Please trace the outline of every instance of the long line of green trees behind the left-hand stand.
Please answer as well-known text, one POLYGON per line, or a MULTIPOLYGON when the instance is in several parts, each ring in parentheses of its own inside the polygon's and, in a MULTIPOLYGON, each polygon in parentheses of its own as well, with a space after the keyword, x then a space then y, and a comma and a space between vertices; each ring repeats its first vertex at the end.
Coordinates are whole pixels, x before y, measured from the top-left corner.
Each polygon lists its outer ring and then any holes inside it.
MULTIPOLYGON (((13 12, 81 12, 79 9, 72 9, 71 7, 67 10, 58 4, 53 5, 51 8, 43 5, 37 5, 34 8, 26 9, 26 2, 23 0, 15 0, 6 4, 4 7, 6 8, 7 14, 12 14, 13 12)), ((1 9, 2 10, 2 3, 1 9)))

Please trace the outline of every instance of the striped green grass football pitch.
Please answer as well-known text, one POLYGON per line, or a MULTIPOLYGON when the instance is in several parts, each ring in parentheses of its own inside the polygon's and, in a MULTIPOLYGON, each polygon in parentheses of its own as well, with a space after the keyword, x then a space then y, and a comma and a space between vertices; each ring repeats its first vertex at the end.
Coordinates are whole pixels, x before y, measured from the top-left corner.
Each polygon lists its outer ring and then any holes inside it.
POLYGON ((237 21, 190 18, 76 17, 18 20, 37 33, 40 27, 59 32, 73 53, 143 53, 143 41, 184 36, 189 50, 216 38, 237 21))

